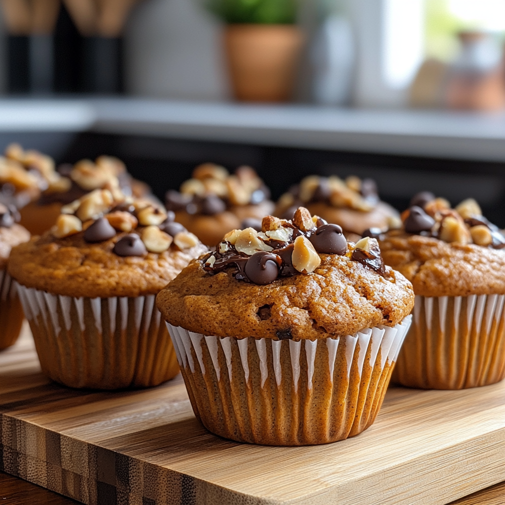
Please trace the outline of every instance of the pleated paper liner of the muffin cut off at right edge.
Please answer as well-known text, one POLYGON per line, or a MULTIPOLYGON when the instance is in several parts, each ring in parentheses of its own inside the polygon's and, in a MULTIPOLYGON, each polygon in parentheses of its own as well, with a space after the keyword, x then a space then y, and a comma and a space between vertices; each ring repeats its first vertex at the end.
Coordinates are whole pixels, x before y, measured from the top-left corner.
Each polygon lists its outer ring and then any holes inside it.
POLYGON ((393 381, 464 389, 505 377, 505 295, 416 296, 393 381))

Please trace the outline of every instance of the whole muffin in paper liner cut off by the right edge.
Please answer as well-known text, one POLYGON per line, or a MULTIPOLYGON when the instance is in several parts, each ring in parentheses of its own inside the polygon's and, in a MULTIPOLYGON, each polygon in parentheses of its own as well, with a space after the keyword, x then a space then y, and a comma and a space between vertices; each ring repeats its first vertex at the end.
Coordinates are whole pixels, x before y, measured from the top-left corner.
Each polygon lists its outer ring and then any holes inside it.
POLYGON ((414 324, 393 380, 409 387, 463 389, 505 377, 505 237, 473 199, 455 209, 416 195, 401 229, 379 239, 386 265, 414 286, 414 324))

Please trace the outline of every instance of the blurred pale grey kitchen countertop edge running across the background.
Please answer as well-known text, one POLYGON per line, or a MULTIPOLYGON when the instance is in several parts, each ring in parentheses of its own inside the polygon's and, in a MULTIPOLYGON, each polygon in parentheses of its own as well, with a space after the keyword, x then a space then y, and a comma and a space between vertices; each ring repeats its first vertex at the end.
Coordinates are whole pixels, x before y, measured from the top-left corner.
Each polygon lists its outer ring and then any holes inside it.
POLYGON ((0 132, 95 131, 505 161, 505 113, 355 110, 144 98, 0 100, 0 132))

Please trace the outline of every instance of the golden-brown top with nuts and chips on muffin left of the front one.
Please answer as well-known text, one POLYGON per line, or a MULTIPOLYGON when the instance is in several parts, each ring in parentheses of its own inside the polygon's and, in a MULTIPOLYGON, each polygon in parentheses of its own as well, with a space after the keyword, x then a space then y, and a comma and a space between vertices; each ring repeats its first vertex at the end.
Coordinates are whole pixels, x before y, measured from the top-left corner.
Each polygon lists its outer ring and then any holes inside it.
POLYGON ((53 294, 156 294, 208 250, 173 218, 152 201, 96 189, 63 207, 50 231, 15 247, 9 271, 53 294))

